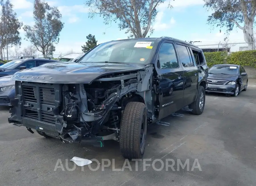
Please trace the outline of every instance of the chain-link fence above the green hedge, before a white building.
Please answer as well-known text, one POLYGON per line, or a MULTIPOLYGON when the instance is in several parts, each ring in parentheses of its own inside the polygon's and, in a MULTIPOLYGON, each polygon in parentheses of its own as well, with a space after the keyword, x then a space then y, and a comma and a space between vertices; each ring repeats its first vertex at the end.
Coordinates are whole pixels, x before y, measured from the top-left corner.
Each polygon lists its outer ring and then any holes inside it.
POLYGON ((203 50, 203 52, 237 52, 256 49, 256 42, 254 43, 229 43, 229 42, 219 42, 218 44, 205 44, 197 45, 203 50))

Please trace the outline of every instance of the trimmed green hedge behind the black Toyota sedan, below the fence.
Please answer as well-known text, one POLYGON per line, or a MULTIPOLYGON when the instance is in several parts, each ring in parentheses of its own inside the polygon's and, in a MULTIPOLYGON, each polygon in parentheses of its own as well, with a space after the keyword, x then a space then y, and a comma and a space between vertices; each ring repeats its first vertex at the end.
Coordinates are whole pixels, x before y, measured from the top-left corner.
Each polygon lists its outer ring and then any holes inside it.
POLYGON ((256 50, 232 52, 204 52, 208 67, 218 64, 234 64, 256 68, 256 50))

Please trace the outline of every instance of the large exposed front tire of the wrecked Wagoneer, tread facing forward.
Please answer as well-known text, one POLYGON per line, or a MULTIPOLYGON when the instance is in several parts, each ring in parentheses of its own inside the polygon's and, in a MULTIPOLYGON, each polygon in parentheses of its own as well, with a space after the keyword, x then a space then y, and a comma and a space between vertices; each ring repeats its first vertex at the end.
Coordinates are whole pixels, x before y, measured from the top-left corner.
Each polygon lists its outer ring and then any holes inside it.
POLYGON ((141 102, 129 102, 123 111, 120 127, 120 150, 124 158, 142 158, 146 146, 147 112, 141 102), (143 130, 143 131, 142 131, 143 130), (141 133, 143 135, 141 136, 141 133))

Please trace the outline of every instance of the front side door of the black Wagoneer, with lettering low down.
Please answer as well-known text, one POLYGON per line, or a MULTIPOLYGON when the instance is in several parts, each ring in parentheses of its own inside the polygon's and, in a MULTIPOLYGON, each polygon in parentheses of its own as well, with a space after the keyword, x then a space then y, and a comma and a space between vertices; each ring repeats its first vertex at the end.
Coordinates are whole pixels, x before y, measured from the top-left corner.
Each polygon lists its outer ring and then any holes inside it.
POLYGON ((182 108, 183 69, 172 43, 163 43, 158 53, 159 116, 162 119, 182 108))

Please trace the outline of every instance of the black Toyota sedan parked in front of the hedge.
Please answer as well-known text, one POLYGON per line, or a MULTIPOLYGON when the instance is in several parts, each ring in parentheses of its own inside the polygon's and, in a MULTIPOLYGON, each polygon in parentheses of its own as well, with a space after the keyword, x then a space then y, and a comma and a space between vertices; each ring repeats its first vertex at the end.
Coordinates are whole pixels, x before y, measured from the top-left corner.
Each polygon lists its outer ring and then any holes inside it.
POLYGON ((206 92, 219 92, 227 96, 246 91, 248 76, 240 65, 214 65, 209 69, 206 92))

